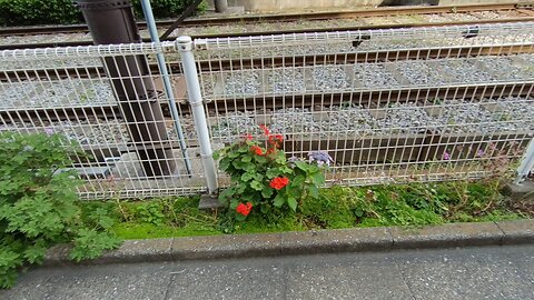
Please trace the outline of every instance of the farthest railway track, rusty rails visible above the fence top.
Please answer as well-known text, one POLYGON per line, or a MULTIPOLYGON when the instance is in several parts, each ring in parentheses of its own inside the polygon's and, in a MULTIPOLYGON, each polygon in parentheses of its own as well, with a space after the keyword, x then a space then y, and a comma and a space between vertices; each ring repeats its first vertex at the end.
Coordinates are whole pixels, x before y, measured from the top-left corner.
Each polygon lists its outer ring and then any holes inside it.
MULTIPOLYGON (((454 20, 441 21, 441 22, 389 22, 379 24, 357 24, 357 26, 329 26, 325 27, 308 27, 306 29, 288 29, 288 30, 246 30, 247 36, 268 36, 268 34, 287 34, 287 33, 305 33, 317 31, 347 31, 347 30, 364 30, 364 29, 388 29, 388 28, 415 28, 427 26, 457 26, 457 24, 476 24, 476 23, 506 23, 518 21, 533 21, 534 9, 528 4, 471 4, 471 6, 444 6, 444 7, 405 7, 405 8, 378 8, 374 10, 362 11, 340 11, 340 12, 315 12, 315 13, 299 13, 299 14, 270 14, 270 16, 241 16, 241 17, 227 17, 227 18, 191 18, 186 19, 184 23, 178 28, 178 32, 186 28, 200 28, 200 27, 214 27, 214 26, 233 26, 233 24, 250 24, 260 22, 296 22, 296 21, 323 21, 323 20, 339 20, 339 19, 358 19, 358 18, 375 18, 375 17, 394 17, 399 18, 402 16, 426 16, 426 14, 443 14, 449 13, 456 16, 452 18, 454 20), (474 16, 477 12, 495 12, 505 13, 497 19, 484 18, 481 16, 474 16), (457 16, 469 16, 468 20, 462 19, 457 16)), ((159 21, 158 28, 165 28, 172 23, 172 21, 159 21)), ((141 29, 146 28, 146 24, 140 23, 141 29)), ((222 38, 222 37, 238 37, 243 36, 243 29, 235 32, 221 32, 220 33, 195 33, 187 31, 186 33, 192 38, 222 38)), ((13 36, 31 36, 31 34, 58 34, 58 33, 80 33, 88 32, 87 26, 65 26, 65 27, 29 27, 29 28, 3 28, 0 29, 1 37, 13 36)), ((166 40, 174 40, 177 36, 174 34, 166 40)), ((144 39, 144 41, 150 41, 144 39)), ((0 41, 1 43, 1 41, 0 41)), ((0 44, 0 50, 7 49, 34 49, 34 48, 50 48, 50 47, 75 47, 75 46, 88 46, 92 44, 90 40, 66 40, 55 42, 20 42, 0 44)))

